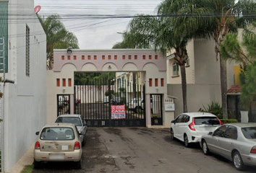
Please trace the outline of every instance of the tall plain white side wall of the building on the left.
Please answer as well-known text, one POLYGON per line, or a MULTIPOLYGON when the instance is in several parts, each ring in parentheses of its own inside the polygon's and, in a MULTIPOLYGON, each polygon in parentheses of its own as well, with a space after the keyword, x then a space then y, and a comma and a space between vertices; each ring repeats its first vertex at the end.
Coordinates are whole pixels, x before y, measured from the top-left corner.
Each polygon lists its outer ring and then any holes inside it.
POLYGON ((4 172, 9 172, 35 143, 35 132, 46 123, 47 110, 46 35, 34 12, 33 0, 10 0, 9 14, 12 14, 7 43, 9 71, 5 76, 15 83, 3 86, 4 97, 1 99, 4 103, 1 112, 4 119, 4 172), (25 73, 26 25, 30 27, 30 76, 25 73))

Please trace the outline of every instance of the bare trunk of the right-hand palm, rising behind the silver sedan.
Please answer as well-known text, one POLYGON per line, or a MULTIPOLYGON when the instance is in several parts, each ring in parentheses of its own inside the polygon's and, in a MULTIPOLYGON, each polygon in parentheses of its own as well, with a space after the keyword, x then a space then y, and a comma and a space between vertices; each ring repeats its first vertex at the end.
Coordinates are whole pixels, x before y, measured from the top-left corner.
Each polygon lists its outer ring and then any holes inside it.
POLYGON ((228 103, 227 103, 227 78, 226 78, 226 61, 223 61, 220 56, 221 68, 221 101, 223 109, 223 119, 228 119, 228 103))

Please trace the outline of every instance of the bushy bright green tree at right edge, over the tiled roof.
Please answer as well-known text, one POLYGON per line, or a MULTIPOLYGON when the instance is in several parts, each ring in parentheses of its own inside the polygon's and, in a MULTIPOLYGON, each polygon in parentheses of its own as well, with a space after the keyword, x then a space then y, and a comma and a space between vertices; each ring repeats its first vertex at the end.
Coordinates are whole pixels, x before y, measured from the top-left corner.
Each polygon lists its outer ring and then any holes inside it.
POLYGON ((244 29, 239 39, 239 34, 229 33, 220 46, 221 58, 226 61, 235 61, 240 64, 239 74, 242 105, 249 108, 256 98, 255 69, 256 69, 256 23, 252 22, 247 29, 244 29))

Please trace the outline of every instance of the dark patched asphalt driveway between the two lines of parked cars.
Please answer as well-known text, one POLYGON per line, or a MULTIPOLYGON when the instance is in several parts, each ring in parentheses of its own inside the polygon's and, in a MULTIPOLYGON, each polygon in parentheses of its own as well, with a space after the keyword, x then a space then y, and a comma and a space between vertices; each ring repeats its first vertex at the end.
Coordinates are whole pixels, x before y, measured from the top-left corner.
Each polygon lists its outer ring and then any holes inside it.
MULTIPOLYGON (((231 161, 205 156, 199 145, 184 147, 171 141, 169 129, 89 128, 83 146, 82 169, 72 163, 47 163, 33 173, 235 173, 231 161)), ((244 172, 256 172, 248 167, 244 172)))

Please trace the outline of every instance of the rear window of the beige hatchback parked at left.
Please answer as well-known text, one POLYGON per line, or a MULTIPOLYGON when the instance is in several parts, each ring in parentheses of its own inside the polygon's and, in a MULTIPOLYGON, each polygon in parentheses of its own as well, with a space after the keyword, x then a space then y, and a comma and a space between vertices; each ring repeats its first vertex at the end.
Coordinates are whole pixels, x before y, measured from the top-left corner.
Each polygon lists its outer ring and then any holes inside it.
POLYGON ((49 141, 74 140, 74 131, 72 128, 66 127, 43 128, 42 132, 40 133, 40 139, 49 141))

